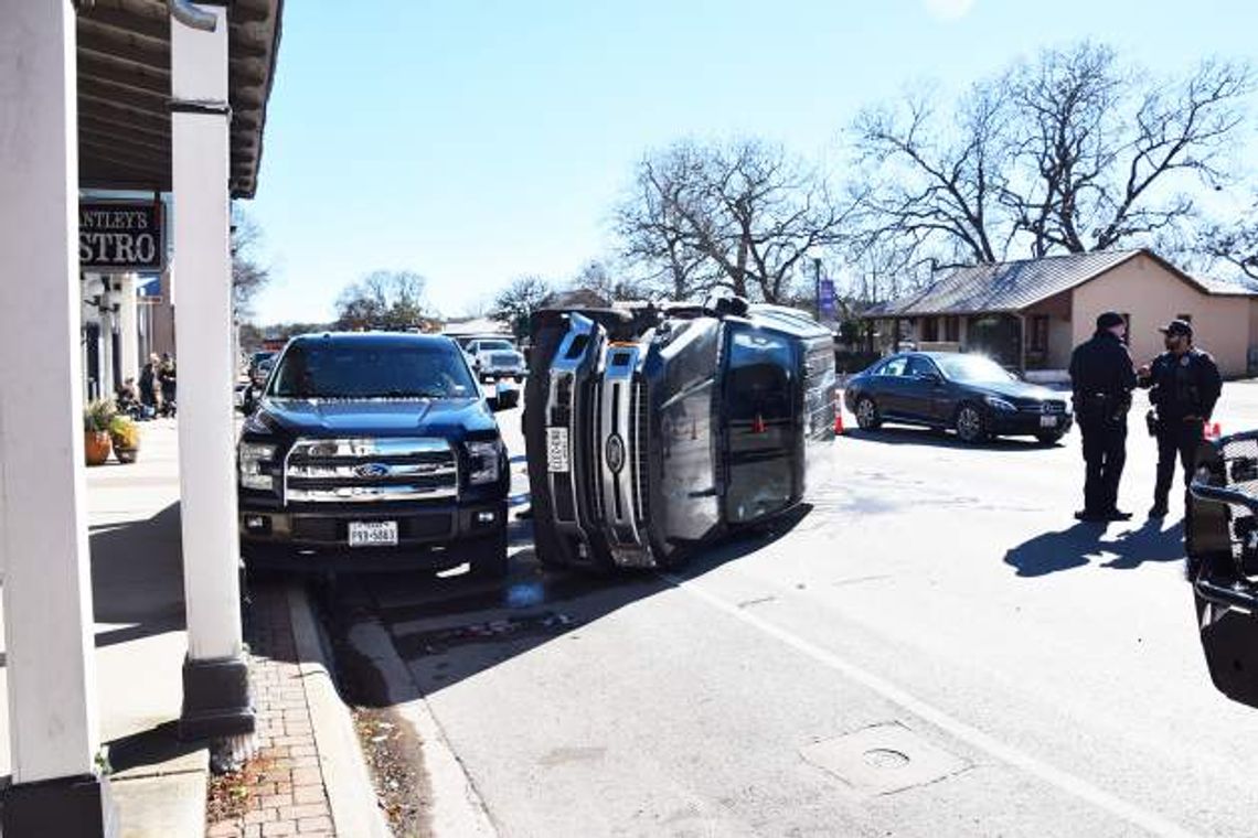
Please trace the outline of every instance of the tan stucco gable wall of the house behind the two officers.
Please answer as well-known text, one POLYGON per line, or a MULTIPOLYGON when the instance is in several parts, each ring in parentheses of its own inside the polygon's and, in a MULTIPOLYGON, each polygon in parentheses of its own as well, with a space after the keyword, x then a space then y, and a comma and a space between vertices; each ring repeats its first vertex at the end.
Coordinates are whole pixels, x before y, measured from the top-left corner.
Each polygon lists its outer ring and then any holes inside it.
POLYGON ((1214 356, 1224 376, 1243 376, 1258 334, 1253 307, 1249 298, 1203 294, 1141 254, 1074 289, 1071 343, 1091 337, 1101 312, 1130 314, 1131 356, 1138 366, 1162 352, 1157 327, 1191 314, 1196 344, 1214 356))

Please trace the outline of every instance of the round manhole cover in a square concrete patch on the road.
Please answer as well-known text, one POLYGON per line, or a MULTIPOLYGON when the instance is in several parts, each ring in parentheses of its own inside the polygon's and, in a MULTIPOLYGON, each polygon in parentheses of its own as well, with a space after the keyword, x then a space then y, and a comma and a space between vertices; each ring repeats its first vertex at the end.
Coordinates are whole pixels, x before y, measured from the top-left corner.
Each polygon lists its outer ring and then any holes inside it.
POLYGON ((867 795, 893 794, 969 768, 901 724, 874 725, 800 749, 810 764, 867 795))

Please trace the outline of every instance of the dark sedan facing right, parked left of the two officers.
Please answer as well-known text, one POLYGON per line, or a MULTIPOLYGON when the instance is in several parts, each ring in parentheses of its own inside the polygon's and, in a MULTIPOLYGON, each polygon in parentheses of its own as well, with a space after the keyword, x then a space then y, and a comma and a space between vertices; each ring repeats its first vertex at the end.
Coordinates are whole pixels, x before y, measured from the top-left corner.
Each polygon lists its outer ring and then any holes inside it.
POLYGON ((1045 445, 1074 421, 1064 393, 1029 384, 995 361, 956 352, 902 352, 848 379, 848 410, 864 430, 883 422, 955 430, 965 442, 1034 436, 1045 445))

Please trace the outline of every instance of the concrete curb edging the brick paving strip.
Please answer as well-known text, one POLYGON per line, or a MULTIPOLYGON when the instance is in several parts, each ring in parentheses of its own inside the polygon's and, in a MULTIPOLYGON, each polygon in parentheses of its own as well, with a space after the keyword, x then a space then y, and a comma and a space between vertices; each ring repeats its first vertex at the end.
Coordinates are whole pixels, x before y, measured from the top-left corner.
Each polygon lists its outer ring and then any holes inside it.
POLYGON ((314 731, 314 748, 318 750, 332 824, 338 835, 391 838, 376 802, 367 763, 359 748, 353 721, 336 691, 336 683, 323 657, 323 646, 320 642, 318 624, 314 622, 309 598, 302 585, 287 587, 297 665, 306 690, 306 705, 314 731))

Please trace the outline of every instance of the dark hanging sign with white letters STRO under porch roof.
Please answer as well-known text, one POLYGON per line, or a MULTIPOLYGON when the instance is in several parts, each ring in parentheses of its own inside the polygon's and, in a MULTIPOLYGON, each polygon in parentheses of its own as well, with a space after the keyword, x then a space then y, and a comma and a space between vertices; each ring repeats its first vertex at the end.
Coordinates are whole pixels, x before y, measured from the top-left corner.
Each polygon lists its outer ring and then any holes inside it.
POLYGON ((79 268, 161 270, 161 207, 157 204, 79 204, 79 268))

